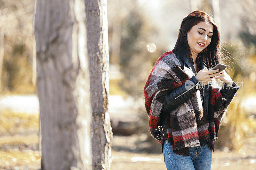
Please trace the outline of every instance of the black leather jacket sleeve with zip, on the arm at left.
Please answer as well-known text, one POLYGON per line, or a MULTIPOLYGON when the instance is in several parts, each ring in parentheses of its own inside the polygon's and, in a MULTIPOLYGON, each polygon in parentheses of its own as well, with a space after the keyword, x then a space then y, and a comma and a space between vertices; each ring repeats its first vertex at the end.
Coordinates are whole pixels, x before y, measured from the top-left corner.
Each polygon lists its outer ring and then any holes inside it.
POLYGON ((192 76, 192 78, 190 78, 189 80, 190 81, 186 81, 181 86, 177 87, 164 97, 164 106, 162 107, 162 110, 164 112, 170 112, 176 109, 178 106, 187 101, 197 91, 196 84, 199 83, 199 81, 196 79, 195 76, 192 76), (186 89, 186 87, 192 86, 194 86, 192 89, 186 89), (175 97, 177 96, 179 97, 175 99, 175 97))

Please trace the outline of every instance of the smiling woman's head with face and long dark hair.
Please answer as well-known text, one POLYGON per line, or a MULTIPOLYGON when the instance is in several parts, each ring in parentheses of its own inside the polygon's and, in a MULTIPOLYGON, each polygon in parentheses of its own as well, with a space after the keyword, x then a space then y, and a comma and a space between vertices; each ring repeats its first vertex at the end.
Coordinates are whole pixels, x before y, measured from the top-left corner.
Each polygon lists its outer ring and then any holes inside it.
POLYGON ((178 40, 173 52, 195 62, 201 58, 208 69, 224 62, 224 55, 220 52, 220 33, 214 20, 204 11, 191 12, 182 20, 178 40))

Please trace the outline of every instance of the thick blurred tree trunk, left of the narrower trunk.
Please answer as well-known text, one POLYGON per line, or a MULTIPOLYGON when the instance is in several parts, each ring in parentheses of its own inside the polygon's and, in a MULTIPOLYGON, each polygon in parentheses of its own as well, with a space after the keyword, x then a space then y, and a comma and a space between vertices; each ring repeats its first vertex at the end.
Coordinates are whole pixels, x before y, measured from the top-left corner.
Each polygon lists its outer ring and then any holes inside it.
MULTIPOLYGON (((42 170, 92 169, 85 28, 83 0, 37 0, 35 38, 42 170)), ((95 139, 95 135, 92 137, 95 139)))

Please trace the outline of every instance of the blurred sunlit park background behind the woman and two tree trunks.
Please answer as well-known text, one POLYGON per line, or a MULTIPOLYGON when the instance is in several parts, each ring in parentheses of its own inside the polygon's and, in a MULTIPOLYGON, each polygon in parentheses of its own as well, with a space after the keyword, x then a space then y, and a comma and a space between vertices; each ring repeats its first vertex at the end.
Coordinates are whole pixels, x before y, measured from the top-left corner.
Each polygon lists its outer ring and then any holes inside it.
MULTIPOLYGON (((203 10, 220 28, 228 74, 240 90, 214 142, 212 169, 256 169, 256 2, 108 0, 111 169, 166 169, 151 137, 143 88, 171 51, 181 21, 203 10)), ((0 169, 39 169, 39 102, 33 33, 35 0, 0 0, 0 169)))

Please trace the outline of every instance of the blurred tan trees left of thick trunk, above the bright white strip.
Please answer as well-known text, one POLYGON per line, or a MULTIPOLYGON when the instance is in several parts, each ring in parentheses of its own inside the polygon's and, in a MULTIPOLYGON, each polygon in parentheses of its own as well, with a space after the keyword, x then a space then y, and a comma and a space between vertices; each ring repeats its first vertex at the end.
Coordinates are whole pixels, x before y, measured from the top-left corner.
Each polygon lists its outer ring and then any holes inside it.
POLYGON ((2 93, 36 92, 34 6, 34 0, 0 0, 2 93))

